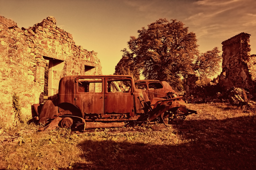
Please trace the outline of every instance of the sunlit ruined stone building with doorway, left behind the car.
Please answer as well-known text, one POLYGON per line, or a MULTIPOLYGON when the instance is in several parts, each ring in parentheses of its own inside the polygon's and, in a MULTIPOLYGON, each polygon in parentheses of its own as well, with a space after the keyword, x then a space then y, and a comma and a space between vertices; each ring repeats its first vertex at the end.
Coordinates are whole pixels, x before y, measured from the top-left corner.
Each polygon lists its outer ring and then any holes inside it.
POLYGON ((56 97, 61 77, 102 74, 97 53, 76 45, 52 16, 27 29, 0 16, 0 57, 0 128, 14 122, 14 93, 31 117, 33 103, 56 97))

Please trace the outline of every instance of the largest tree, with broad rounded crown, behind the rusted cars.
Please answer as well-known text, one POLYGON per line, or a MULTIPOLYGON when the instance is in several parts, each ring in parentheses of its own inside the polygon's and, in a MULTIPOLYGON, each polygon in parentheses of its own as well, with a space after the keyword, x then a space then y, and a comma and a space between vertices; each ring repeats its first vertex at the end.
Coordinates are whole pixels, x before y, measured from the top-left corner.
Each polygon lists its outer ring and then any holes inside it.
POLYGON ((197 39, 181 21, 159 19, 131 36, 129 49, 146 79, 175 84, 193 72, 191 63, 199 53, 197 39))

